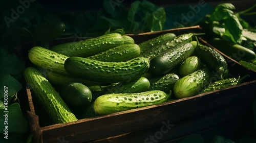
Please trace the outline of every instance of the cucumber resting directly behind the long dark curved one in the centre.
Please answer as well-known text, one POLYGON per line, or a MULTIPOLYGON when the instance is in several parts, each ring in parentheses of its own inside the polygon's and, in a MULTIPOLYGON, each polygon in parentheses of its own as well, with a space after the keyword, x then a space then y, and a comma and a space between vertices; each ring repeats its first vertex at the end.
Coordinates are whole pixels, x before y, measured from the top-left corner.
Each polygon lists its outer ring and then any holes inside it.
POLYGON ((135 43, 123 44, 96 55, 87 57, 89 59, 104 62, 122 62, 140 56, 140 47, 135 43))

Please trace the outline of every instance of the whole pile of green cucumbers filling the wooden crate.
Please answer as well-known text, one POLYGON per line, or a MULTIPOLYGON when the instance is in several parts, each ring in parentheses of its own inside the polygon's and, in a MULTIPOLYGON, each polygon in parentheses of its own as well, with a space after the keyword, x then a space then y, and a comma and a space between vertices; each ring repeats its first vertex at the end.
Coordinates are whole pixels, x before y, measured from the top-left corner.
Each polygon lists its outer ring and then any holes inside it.
POLYGON ((54 124, 189 98, 241 82, 196 33, 141 43, 120 33, 28 52, 32 96, 54 124))

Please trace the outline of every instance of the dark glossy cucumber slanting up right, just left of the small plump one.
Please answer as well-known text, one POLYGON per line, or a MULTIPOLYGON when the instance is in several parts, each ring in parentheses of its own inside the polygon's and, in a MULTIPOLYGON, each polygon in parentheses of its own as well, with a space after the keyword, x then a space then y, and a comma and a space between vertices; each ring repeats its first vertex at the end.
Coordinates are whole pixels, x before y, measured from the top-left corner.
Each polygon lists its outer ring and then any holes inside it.
POLYGON ((153 57, 150 61, 150 69, 148 71, 153 75, 164 75, 191 56, 195 48, 189 42, 179 44, 173 49, 169 49, 153 57))

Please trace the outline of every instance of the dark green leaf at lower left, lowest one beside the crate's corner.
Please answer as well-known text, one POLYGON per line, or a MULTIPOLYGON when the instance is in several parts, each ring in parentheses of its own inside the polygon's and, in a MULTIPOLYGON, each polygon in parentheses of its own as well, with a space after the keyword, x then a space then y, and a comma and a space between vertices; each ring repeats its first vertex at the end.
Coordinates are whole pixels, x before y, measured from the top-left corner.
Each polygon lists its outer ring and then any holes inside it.
POLYGON ((6 127, 8 133, 24 133, 27 131, 28 122, 24 118, 18 103, 8 106, 8 110, 0 109, 0 132, 4 133, 6 127), (5 112, 8 111, 8 112, 5 112))

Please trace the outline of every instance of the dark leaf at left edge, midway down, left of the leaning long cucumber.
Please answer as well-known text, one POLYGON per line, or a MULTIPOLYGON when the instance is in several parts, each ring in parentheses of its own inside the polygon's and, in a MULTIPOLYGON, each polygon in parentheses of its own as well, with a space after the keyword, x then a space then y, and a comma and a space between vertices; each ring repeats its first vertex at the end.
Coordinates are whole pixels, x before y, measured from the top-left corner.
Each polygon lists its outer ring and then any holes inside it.
POLYGON ((8 89, 8 96, 12 96, 13 94, 17 93, 20 89, 22 89, 22 84, 8 73, 1 73, 0 79, 0 99, 4 98, 4 87, 8 89))

